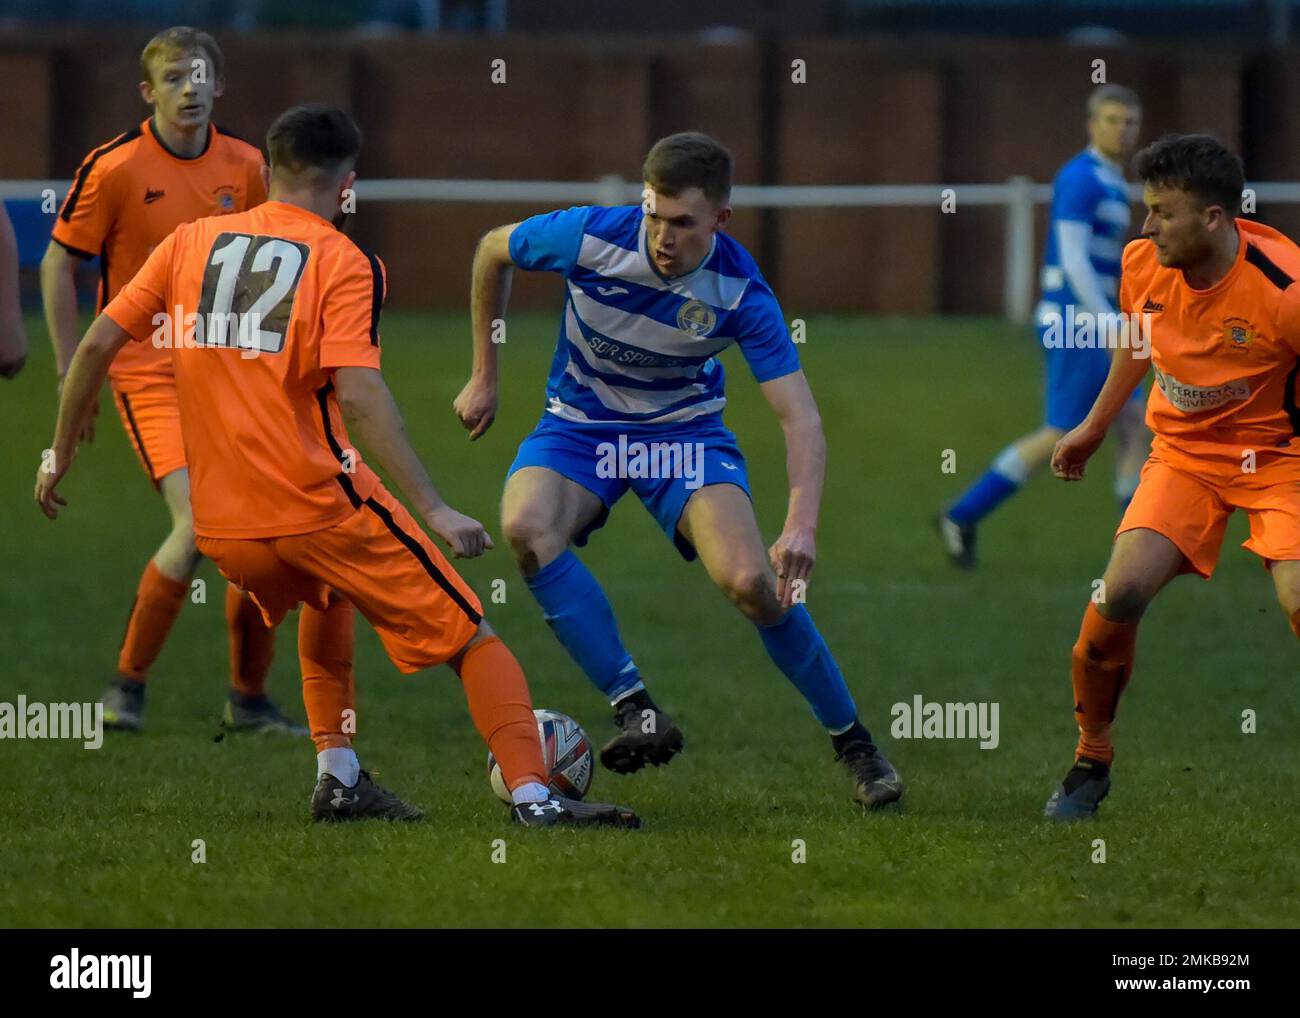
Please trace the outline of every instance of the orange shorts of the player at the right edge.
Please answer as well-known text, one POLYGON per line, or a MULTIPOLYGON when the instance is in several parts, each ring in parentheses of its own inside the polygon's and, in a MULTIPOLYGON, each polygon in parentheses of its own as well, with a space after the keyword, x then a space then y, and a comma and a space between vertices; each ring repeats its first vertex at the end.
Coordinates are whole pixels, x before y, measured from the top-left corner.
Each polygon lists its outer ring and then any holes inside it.
POLYGON ((1115 534, 1156 530, 1187 558, 1183 572, 1206 580, 1218 563, 1227 517, 1244 510, 1251 537, 1243 542, 1265 560, 1300 559, 1300 456, 1271 449, 1256 452, 1256 469, 1240 459, 1221 462, 1154 451, 1115 534))

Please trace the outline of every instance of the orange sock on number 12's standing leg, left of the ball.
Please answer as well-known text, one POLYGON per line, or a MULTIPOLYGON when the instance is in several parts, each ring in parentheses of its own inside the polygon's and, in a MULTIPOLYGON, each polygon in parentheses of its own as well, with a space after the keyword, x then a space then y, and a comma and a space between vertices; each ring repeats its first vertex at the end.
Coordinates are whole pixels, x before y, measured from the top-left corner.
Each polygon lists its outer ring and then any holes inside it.
POLYGON ((351 746, 356 733, 352 618, 352 602, 339 599, 325 611, 303 605, 298 619, 303 705, 317 751, 351 746))

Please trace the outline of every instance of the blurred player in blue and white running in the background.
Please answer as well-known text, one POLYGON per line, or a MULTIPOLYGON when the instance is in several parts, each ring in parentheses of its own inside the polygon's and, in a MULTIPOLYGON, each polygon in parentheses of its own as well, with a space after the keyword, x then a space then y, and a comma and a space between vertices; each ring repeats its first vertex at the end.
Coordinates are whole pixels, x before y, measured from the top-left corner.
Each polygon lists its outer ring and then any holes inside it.
MULTIPOLYGON (((1061 436, 1083 420, 1110 368, 1105 348, 1053 347, 1049 330, 1063 337, 1083 312, 1093 322, 1114 316, 1119 255, 1128 239, 1130 202, 1124 161, 1134 151, 1141 120, 1138 95, 1102 85, 1088 98, 1088 147, 1061 168, 1052 185, 1052 224, 1043 257, 1043 299, 1037 333, 1046 354, 1046 407, 1043 425, 1018 438, 939 516, 949 556, 972 568, 975 528, 1052 458, 1061 436)), ((1112 317, 1113 320, 1113 317, 1112 317)), ((1095 333, 1096 334, 1096 333, 1095 333)), ((1121 510, 1138 488, 1150 443, 1141 421, 1141 391, 1115 420, 1115 499, 1121 510)))

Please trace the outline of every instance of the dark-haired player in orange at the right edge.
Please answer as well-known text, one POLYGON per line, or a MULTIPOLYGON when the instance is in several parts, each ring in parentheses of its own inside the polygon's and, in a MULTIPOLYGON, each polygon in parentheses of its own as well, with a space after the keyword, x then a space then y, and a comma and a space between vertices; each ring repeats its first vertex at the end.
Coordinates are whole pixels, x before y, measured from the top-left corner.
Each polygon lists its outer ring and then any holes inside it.
POLYGON ((1209 579, 1227 517, 1243 510, 1245 547, 1273 576, 1300 636, 1300 247, 1236 217, 1242 161, 1213 138, 1174 135, 1136 160, 1148 213, 1124 250, 1121 309, 1128 348, 1088 417, 1056 447, 1078 480, 1147 373, 1150 458, 1074 645, 1075 763, 1046 815, 1088 816, 1110 789, 1110 727, 1132 672, 1138 623, 1175 576, 1209 579))

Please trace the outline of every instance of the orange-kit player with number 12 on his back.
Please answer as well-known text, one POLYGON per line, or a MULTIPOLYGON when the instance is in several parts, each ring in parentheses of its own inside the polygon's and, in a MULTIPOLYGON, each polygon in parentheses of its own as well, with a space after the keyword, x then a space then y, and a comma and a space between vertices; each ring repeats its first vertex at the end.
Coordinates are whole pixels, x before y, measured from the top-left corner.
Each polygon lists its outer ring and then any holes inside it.
POLYGON ((302 605, 303 698, 317 749, 312 815, 413 820, 352 749, 352 606, 404 673, 448 663, 529 826, 634 827, 636 814, 554 798, 524 672, 482 605, 352 447, 364 445, 456 555, 491 547, 447 506, 407 441, 380 373, 384 267, 332 221, 356 179, 360 131, 339 109, 295 107, 266 137, 269 200, 179 226, 95 320, 64 387, 53 468, 36 499, 56 515, 58 477, 109 361, 161 320, 192 472, 199 550, 247 590, 266 623, 302 605))

